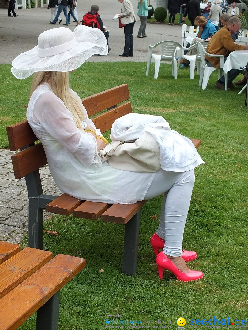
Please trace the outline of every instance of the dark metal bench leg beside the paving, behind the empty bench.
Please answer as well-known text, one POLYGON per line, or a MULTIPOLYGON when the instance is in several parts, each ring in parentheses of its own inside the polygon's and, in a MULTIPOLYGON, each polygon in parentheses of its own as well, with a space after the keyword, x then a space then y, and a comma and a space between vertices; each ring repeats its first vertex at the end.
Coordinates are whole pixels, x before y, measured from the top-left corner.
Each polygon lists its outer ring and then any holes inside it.
POLYGON ((43 209, 39 207, 39 198, 29 198, 28 246, 43 249, 43 209))

